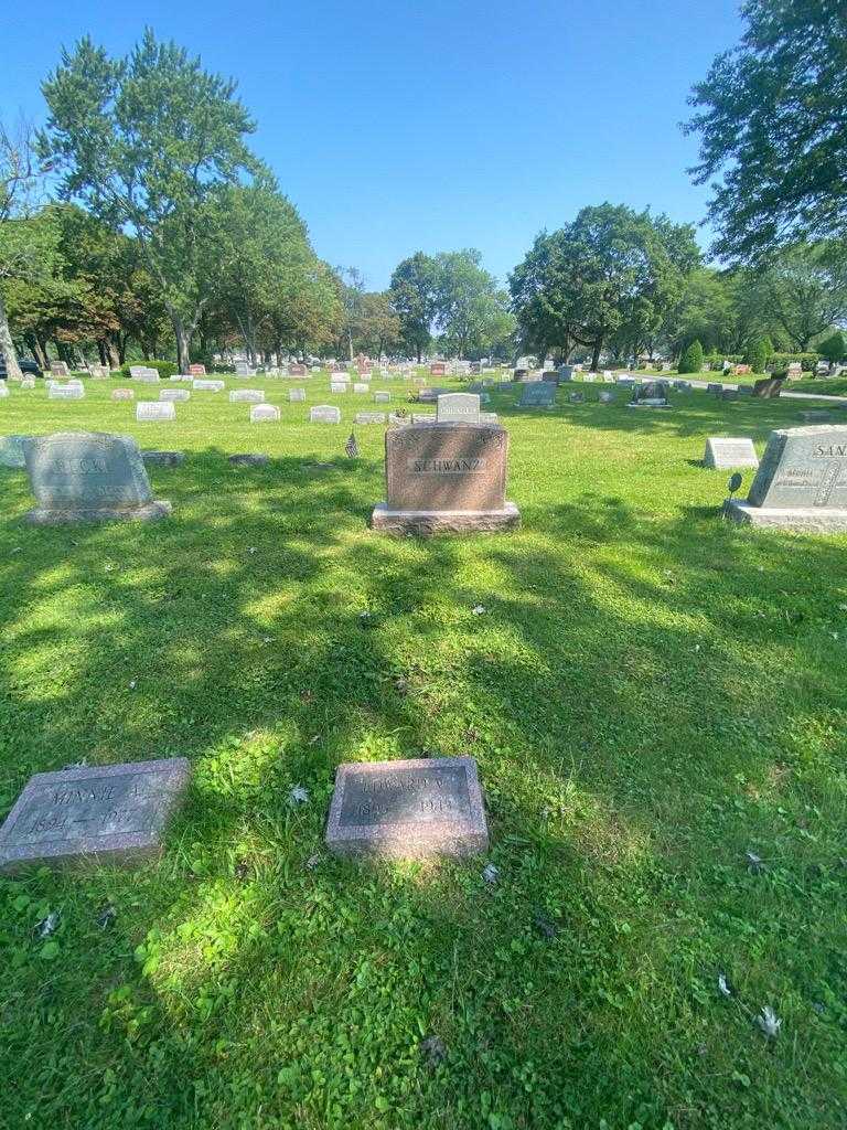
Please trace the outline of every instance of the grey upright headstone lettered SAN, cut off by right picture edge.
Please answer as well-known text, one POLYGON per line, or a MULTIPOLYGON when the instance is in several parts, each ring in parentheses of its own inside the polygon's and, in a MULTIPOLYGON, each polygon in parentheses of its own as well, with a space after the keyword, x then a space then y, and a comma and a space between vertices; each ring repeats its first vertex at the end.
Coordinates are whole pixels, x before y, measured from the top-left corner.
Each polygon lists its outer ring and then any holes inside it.
POLYGON ((771 432, 746 501, 728 498, 724 512, 750 525, 847 530, 847 425, 771 432))

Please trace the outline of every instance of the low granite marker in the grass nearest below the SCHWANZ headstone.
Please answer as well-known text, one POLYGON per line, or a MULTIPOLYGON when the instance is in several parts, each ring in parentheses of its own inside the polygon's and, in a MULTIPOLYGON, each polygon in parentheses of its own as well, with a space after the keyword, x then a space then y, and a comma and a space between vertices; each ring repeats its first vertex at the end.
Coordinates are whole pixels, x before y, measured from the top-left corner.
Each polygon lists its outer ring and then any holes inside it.
POLYGON ((337 855, 473 855, 488 826, 472 757, 339 765, 326 823, 337 855))

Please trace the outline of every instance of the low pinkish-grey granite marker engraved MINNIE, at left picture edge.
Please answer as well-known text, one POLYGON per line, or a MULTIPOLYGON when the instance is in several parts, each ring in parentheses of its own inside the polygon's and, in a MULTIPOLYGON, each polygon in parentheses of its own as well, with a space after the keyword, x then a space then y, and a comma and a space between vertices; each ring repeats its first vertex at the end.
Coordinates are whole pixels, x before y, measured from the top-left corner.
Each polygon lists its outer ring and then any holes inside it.
POLYGON ((158 853, 190 775, 184 757, 36 773, 0 828, 0 871, 158 853))

